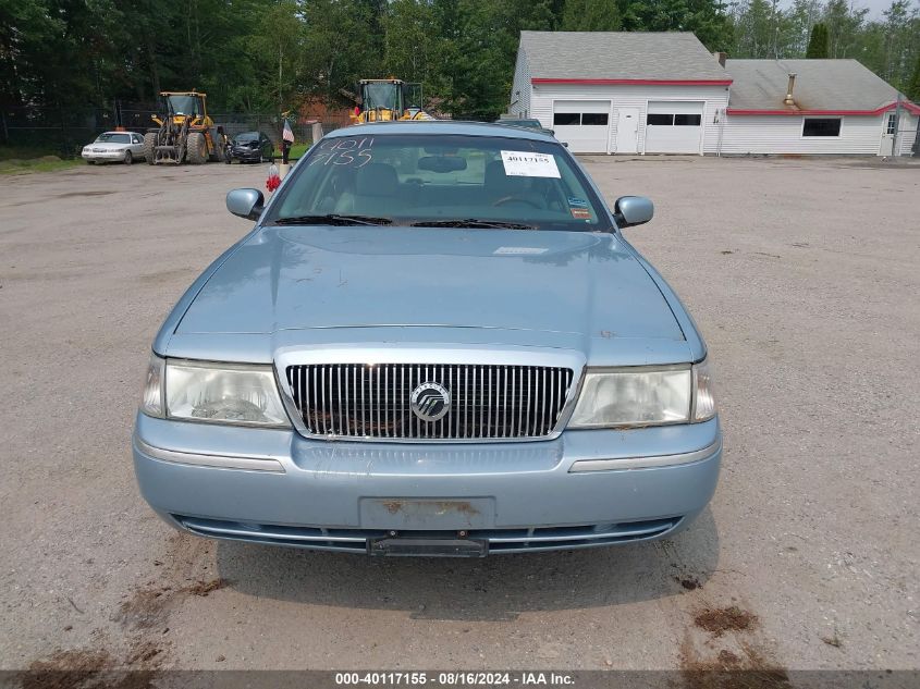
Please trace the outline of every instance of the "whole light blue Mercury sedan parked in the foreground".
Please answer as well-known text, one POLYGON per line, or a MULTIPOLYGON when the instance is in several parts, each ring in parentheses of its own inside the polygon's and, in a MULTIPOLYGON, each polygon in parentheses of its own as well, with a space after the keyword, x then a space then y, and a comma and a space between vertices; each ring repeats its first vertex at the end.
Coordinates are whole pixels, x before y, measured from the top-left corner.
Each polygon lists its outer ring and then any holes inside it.
POLYGON ((219 539, 483 556, 658 539, 715 490, 707 349, 539 132, 338 130, 154 341, 140 491, 219 539))

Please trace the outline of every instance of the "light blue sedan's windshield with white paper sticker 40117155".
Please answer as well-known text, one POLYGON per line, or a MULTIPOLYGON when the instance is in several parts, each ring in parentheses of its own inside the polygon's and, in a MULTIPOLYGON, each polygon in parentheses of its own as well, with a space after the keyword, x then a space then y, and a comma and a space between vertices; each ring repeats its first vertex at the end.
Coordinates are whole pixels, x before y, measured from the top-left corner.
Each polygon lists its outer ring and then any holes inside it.
MULTIPOLYGON (((437 125, 432 125, 437 126, 437 125)), ((610 220, 551 142, 431 134, 327 138, 279 192, 267 224, 606 231, 610 220)))

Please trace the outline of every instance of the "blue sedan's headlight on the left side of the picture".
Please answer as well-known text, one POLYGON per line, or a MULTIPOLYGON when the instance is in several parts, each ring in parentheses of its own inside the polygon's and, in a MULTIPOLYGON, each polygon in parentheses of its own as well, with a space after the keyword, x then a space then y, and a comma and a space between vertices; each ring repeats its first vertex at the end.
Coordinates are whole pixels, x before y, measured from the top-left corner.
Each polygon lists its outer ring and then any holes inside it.
POLYGON ((164 385, 159 393, 164 411, 160 415, 151 414, 154 407, 148 411, 147 399, 156 396, 150 379, 148 373, 145 414, 212 423, 290 426, 270 366, 168 359, 160 377, 164 385))

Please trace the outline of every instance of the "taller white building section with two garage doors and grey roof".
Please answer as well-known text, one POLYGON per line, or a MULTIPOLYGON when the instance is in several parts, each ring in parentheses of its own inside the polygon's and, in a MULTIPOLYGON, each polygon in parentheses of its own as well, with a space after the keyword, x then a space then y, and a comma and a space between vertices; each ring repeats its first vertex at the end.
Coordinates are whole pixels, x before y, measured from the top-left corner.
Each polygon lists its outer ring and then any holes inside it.
POLYGON ((731 84, 690 33, 522 32, 508 112, 574 152, 716 153, 731 84))

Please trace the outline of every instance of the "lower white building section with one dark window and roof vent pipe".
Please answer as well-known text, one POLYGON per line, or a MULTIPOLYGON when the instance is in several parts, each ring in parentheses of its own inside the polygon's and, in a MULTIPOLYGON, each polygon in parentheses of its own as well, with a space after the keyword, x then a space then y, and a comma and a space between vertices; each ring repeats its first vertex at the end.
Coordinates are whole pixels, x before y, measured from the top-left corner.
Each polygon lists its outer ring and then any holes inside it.
POLYGON ((728 60, 721 153, 909 156, 920 108, 856 60, 728 60))

